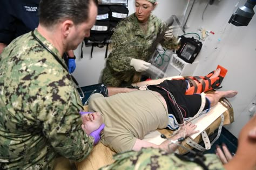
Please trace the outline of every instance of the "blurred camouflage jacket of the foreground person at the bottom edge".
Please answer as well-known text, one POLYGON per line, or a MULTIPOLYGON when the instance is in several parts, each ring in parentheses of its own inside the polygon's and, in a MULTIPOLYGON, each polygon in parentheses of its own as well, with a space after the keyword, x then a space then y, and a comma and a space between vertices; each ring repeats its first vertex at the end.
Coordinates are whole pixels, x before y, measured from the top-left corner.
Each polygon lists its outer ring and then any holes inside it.
MULTIPOLYGON (((205 154, 204 165, 209 170, 224 170, 223 164, 215 154, 205 154)), ((142 150, 127 151, 114 155, 114 162, 100 170, 114 169, 161 169, 161 170, 203 170, 202 166, 195 162, 184 161, 174 154, 158 150, 156 148, 142 148, 142 150)))

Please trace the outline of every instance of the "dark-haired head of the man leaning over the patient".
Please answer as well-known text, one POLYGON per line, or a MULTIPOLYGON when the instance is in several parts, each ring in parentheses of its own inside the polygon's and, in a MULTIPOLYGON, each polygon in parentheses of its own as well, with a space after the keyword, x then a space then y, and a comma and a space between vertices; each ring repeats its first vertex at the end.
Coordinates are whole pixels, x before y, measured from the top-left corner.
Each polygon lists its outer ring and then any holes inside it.
POLYGON ((97 0, 41 0, 38 31, 43 36, 45 32, 52 33, 50 39, 59 41, 57 44, 65 51, 76 49, 85 37, 90 37, 97 4, 97 0))

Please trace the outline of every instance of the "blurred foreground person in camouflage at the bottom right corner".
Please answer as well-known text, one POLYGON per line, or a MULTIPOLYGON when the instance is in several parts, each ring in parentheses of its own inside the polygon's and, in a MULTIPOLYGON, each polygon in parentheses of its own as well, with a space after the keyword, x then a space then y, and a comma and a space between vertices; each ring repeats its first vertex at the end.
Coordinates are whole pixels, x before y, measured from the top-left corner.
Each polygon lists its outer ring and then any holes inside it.
MULTIPOLYGON (((178 157, 180 156, 178 155, 178 157)), ((178 157, 156 148, 143 148, 138 152, 128 151, 116 154, 113 164, 100 169, 256 169, 256 115, 242 128, 238 138, 237 152, 233 158, 227 149, 223 152, 220 151, 220 148, 217 148, 217 155, 197 156, 200 159, 200 164, 199 161, 193 160, 194 157, 190 157, 192 158, 190 161, 185 160, 182 156, 178 157), (203 166, 206 167, 203 168, 203 166)))

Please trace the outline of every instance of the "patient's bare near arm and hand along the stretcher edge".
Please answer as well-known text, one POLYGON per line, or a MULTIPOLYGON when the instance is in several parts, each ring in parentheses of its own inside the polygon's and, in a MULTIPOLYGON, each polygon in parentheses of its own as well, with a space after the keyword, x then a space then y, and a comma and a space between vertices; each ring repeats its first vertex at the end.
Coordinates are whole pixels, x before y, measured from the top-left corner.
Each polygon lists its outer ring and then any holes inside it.
MULTIPOLYGON (((195 129, 197 128, 196 125, 192 124, 192 123, 187 123, 186 126, 182 126, 181 129, 179 130, 179 132, 174 135, 171 140, 177 140, 181 137, 189 137, 194 133, 197 133, 198 131, 195 131, 195 129)), ((180 143, 180 142, 178 142, 180 143)), ((161 148, 162 150, 168 151, 168 152, 173 152, 178 148, 178 145, 176 144, 170 144, 169 140, 165 140, 163 143, 161 143, 160 145, 156 145, 153 143, 150 143, 148 141, 144 141, 144 140, 140 140, 140 139, 136 139, 136 142, 132 148, 132 150, 134 151, 139 151, 141 148, 143 147, 154 147, 154 148, 161 148)))

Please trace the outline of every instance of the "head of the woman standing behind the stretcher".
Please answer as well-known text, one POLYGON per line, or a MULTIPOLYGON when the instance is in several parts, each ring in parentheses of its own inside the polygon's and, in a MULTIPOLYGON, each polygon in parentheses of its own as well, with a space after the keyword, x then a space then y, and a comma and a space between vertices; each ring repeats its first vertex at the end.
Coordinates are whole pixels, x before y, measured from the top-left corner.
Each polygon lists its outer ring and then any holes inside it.
POLYGON ((151 12, 156 8, 156 0, 135 0, 135 16, 139 22, 146 23, 149 20, 151 12))

